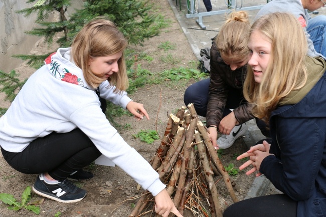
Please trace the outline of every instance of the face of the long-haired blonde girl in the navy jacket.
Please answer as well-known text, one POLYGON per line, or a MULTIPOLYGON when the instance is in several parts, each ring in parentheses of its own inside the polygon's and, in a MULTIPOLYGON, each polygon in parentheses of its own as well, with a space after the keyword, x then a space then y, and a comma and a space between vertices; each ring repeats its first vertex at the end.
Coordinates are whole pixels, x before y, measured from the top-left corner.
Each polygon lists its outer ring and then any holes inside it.
POLYGON ((272 43, 260 31, 255 30, 250 35, 248 48, 250 50, 248 64, 252 67, 255 81, 260 84, 269 62, 272 43))

